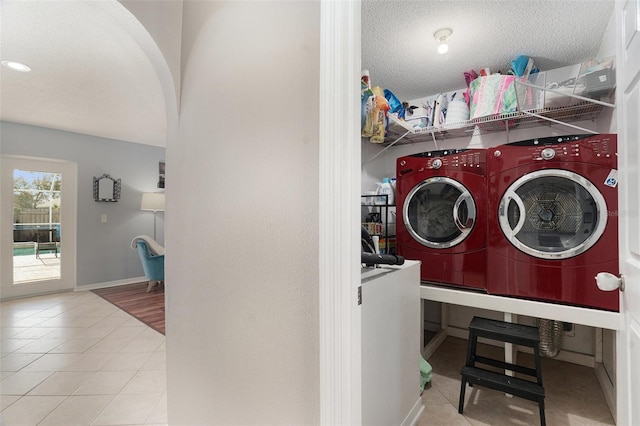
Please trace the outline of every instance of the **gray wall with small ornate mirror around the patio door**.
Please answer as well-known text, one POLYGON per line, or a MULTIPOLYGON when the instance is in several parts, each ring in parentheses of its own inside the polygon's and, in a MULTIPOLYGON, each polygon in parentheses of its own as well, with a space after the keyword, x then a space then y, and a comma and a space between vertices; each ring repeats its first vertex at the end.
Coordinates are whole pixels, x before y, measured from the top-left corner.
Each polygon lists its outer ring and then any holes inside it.
MULTIPOLYGON (((130 248, 139 234, 153 236, 153 213, 140 211, 142 192, 155 192, 164 148, 95 136, 0 122, 0 154, 73 161, 78 164, 77 285, 108 284, 143 277, 130 248), (117 203, 93 200, 93 177, 122 179, 117 203), (100 221, 107 215, 107 223, 100 221)), ((164 214, 158 240, 164 241, 164 214)), ((64 237, 63 237, 64 238, 64 237)))

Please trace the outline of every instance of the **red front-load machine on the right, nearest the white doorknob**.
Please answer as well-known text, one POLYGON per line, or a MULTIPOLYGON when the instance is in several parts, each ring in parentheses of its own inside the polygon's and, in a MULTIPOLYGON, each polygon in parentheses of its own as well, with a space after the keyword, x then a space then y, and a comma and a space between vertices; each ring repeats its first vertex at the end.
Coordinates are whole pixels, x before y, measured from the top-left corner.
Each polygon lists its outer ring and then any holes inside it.
POLYGON ((617 136, 532 139, 487 151, 490 294, 618 311, 617 136))

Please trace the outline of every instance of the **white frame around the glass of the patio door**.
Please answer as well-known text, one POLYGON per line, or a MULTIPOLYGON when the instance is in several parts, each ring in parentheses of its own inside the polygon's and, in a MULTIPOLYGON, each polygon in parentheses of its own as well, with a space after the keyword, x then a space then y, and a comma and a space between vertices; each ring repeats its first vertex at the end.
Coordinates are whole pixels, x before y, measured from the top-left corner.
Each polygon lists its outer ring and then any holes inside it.
POLYGON ((0 300, 75 290, 78 211, 78 167, 76 163, 20 155, 0 156, 0 300), (13 170, 39 170, 62 175, 60 223, 63 229, 60 279, 13 285, 13 170))

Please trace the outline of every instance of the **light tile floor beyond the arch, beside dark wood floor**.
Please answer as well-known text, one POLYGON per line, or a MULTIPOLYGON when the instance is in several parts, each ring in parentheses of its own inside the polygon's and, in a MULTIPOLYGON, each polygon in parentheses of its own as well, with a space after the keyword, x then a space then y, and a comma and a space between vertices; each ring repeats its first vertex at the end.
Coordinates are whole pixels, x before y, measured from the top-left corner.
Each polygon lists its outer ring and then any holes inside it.
POLYGON ((82 291, 0 303, 0 424, 167 424, 165 338, 82 291))

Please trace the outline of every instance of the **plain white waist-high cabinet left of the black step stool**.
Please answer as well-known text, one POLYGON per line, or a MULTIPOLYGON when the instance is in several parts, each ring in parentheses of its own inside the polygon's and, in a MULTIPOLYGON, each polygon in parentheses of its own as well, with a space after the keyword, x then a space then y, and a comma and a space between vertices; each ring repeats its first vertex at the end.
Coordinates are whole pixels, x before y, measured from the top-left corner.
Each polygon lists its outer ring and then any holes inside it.
POLYGON ((420 262, 365 268, 362 424, 412 425, 420 398, 420 262))

